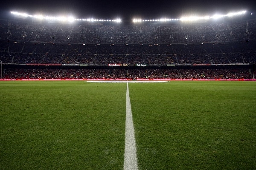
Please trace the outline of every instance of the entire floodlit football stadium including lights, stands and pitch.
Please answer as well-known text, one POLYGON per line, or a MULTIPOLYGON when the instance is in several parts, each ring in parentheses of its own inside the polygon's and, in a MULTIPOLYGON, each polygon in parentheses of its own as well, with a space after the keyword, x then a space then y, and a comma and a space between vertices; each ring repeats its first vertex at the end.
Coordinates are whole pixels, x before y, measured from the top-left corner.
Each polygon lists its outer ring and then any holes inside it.
POLYGON ((1 170, 255 170, 256 17, 0 19, 1 170))

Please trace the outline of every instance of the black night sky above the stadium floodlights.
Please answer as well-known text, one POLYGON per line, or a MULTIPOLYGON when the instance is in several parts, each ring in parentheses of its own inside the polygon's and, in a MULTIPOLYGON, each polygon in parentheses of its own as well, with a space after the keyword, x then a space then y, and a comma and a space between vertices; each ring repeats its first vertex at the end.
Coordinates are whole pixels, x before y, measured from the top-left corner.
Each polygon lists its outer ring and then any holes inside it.
POLYGON ((255 0, 10 0, 0 4, 1 14, 25 11, 29 14, 73 15, 77 18, 130 20, 134 17, 180 18, 190 14, 214 15, 230 11, 255 11, 255 0))

